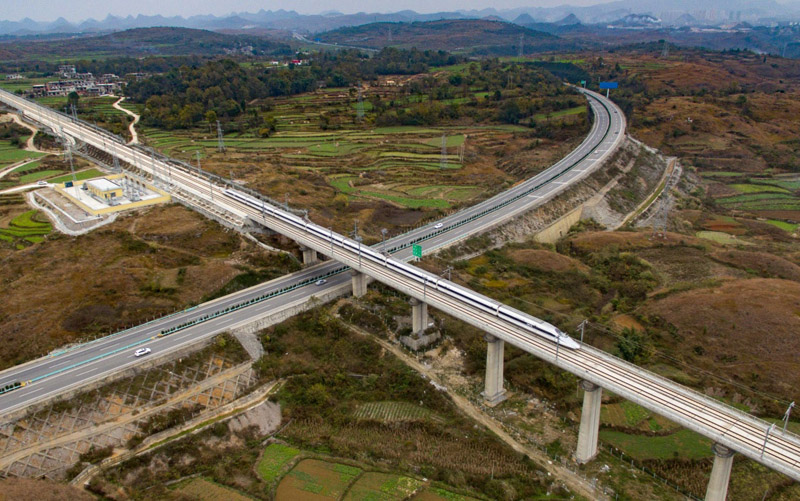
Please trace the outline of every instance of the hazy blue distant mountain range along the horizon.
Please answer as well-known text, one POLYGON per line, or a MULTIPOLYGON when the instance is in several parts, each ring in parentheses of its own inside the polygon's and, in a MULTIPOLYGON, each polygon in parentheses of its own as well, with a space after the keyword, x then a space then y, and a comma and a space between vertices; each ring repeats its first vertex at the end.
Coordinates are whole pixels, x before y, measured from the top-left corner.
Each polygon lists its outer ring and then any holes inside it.
POLYGON ((103 20, 87 19, 70 22, 64 18, 52 22, 0 21, 0 35, 26 36, 46 34, 77 34, 121 31, 131 28, 174 26, 207 30, 282 30, 302 34, 321 33, 346 26, 376 22, 419 22, 445 19, 496 19, 521 25, 534 23, 556 24, 611 24, 628 16, 649 16, 670 26, 722 26, 747 22, 754 26, 774 26, 800 20, 800 0, 780 4, 774 0, 618 0, 588 7, 522 7, 509 10, 483 9, 456 12, 421 14, 404 10, 389 14, 364 13, 302 15, 295 11, 260 10, 255 13, 240 12, 229 16, 197 15, 191 17, 164 16, 107 16, 103 20))

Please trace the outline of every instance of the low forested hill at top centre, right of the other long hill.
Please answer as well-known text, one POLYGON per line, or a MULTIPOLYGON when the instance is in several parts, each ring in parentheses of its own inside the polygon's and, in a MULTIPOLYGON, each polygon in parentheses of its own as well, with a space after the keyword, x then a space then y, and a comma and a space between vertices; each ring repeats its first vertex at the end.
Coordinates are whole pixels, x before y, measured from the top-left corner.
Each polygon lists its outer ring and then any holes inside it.
POLYGON ((371 23, 318 35, 325 43, 380 49, 417 47, 471 54, 516 55, 520 37, 526 54, 568 50, 575 46, 555 35, 504 21, 454 19, 417 23, 371 23))

